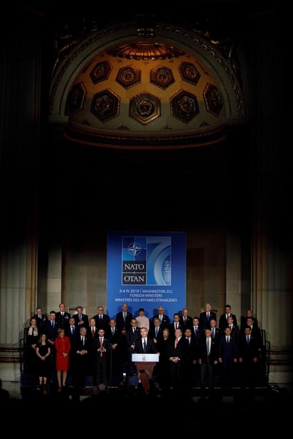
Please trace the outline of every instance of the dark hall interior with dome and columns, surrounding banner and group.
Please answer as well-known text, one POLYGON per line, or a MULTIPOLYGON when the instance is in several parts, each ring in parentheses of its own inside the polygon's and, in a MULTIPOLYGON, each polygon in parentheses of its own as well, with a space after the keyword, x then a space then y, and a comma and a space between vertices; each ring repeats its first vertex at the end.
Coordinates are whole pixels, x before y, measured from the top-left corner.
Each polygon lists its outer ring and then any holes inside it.
POLYGON ((109 231, 186 232, 188 313, 252 309, 265 387, 291 395, 281 22, 276 1, 241 0, 31 1, 1 14, 0 378, 11 396, 23 396, 36 307, 107 309, 109 231))

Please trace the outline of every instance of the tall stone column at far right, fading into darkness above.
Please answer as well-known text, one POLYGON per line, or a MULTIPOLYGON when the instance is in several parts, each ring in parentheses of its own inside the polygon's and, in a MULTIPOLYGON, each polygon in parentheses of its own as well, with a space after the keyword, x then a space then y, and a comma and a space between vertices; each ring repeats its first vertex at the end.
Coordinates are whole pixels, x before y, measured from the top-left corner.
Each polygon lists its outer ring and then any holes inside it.
POLYGON ((285 141, 289 123, 284 99, 290 81, 286 85, 280 68, 284 42, 278 21, 273 13, 252 18, 252 306, 267 332, 271 359, 275 357, 272 364, 284 364, 287 356, 289 366, 293 341, 292 160, 285 141), (282 361, 277 359, 279 353, 282 361))

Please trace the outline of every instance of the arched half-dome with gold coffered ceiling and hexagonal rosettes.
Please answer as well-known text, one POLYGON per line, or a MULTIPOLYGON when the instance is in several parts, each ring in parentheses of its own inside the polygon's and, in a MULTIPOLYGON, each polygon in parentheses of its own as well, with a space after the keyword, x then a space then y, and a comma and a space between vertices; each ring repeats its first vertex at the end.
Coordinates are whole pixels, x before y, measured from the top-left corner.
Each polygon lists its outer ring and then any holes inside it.
POLYGON ((51 86, 52 123, 70 141, 179 148, 222 141, 244 117, 233 67, 200 33, 112 26, 68 45, 51 86))

